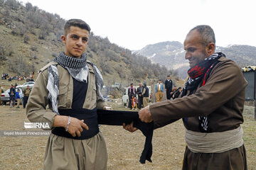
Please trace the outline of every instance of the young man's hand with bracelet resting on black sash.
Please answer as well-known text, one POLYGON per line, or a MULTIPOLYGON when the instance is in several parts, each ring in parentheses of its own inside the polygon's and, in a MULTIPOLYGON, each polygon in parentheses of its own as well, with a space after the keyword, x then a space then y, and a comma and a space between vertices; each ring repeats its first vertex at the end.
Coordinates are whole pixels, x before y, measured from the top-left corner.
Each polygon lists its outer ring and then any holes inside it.
MULTIPOLYGON (((88 126, 84 123, 84 120, 79 120, 77 118, 70 117, 70 125, 68 127, 68 132, 75 137, 78 135, 78 137, 81 136, 81 132, 83 131, 82 128, 85 128, 85 130, 89 130, 88 126)), ((65 129, 67 128, 67 125, 65 125, 65 129)))

